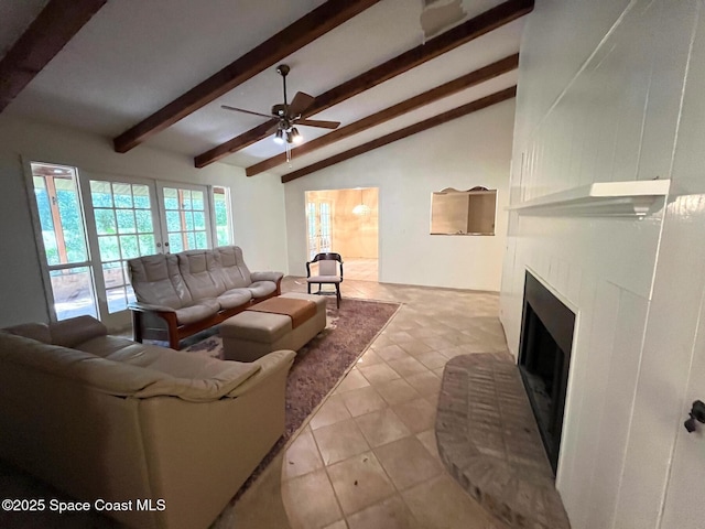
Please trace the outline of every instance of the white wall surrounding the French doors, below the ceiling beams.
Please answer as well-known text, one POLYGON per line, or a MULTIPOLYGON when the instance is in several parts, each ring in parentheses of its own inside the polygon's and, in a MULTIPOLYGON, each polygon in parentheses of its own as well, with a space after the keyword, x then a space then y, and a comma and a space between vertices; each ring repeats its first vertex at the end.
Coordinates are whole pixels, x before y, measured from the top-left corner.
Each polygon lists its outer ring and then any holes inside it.
POLYGON ((283 188, 279 179, 248 179, 240 168, 193 159, 147 147, 127 154, 110 140, 0 115, 0 326, 47 321, 48 310, 34 234, 28 213, 22 158, 77 166, 82 174, 133 176, 230 187, 236 244, 251 270, 286 271, 283 188))

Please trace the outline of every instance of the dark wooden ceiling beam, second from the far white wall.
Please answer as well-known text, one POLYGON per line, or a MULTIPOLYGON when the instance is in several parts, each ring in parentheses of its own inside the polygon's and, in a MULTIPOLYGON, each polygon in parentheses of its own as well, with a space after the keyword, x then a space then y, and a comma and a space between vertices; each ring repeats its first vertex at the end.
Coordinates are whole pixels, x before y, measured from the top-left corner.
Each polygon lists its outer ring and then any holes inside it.
MULTIPOLYGON (((417 96, 399 102, 392 107, 386 108, 384 110, 372 114, 346 127, 337 129, 314 140, 307 141, 303 145, 292 149, 291 154, 292 156, 301 156, 303 154, 307 154, 317 149, 335 143, 336 141, 340 141, 344 138, 348 138, 352 134, 357 134, 358 132, 362 132, 364 130, 376 127, 380 123, 383 123, 384 121, 389 121, 390 119, 394 119, 399 116, 411 112, 412 110, 416 110, 417 108, 421 108, 433 101, 437 101, 438 99, 443 99, 444 97, 457 94, 460 90, 464 90, 471 86, 476 86, 499 75, 517 69, 518 66, 519 54, 517 53, 514 55, 510 55, 492 64, 484 66, 479 69, 470 72, 469 74, 458 77, 457 79, 451 80, 441 86, 432 88, 431 90, 424 91, 423 94, 419 94, 417 96)), ((285 153, 276 154, 275 156, 272 156, 268 160, 256 163, 254 165, 250 165, 245 170, 245 172, 248 176, 254 176, 256 174, 275 168, 276 165, 281 165, 282 163, 286 163, 285 153)))

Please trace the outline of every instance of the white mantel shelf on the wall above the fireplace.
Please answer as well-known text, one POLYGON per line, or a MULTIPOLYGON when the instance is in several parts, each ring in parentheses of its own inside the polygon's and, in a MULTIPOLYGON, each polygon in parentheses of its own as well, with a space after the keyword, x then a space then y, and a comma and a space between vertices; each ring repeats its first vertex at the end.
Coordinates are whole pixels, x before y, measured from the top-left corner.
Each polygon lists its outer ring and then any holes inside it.
MULTIPOLYGON (((643 217, 669 194, 670 180, 599 182, 509 206, 520 215, 643 217)), ((660 208, 660 206, 659 206, 660 208)))

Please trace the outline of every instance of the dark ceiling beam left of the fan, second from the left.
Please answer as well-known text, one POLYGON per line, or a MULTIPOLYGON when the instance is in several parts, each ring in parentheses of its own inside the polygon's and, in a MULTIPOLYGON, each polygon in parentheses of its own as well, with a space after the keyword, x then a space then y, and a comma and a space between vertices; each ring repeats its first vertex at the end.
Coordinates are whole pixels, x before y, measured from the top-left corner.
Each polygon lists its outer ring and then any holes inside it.
MULTIPOLYGON (((380 0, 328 0, 112 140, 128 152, 380 0)), ((264 8, 262 8, 264 9, 264 8)))

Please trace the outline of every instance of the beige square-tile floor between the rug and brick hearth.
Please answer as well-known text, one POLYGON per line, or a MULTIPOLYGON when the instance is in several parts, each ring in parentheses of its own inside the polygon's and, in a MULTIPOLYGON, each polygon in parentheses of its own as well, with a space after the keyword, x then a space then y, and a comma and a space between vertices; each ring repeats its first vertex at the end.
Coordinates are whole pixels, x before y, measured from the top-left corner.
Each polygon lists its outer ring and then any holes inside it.
POLYGON ((445 363, 507 350, 498 294, 346 279, 343 295, 402 305, 216 528, 503 529, 446 472, 434 433, 445 363))

